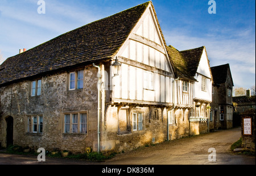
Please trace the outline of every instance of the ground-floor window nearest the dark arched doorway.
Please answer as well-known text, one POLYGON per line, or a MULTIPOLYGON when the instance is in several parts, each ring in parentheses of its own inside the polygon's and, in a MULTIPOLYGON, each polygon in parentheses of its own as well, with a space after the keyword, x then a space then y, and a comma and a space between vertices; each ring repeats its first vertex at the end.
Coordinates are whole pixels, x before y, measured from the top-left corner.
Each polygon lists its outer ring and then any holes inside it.
POLYGON ((43 132, 43 116, 32 115, 27 116, 27 133, 42 133, 43 132))

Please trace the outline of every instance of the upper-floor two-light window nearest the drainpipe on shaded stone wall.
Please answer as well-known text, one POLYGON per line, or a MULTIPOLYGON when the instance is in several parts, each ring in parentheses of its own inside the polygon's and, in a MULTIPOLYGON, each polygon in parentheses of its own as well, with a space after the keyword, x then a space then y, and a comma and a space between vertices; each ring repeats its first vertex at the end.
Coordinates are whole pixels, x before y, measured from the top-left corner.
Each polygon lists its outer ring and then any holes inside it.
POLYGON ((69 90, 84 88, 84 70, 69 73, 69 90))

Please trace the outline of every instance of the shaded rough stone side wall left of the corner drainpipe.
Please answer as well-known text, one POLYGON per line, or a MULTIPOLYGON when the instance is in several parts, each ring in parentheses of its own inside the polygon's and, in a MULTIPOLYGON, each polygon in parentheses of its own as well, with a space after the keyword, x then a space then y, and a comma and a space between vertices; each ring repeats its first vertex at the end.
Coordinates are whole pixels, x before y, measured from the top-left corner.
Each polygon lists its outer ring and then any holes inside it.
MULTIPOLYGON (((97 140, 97 69, 85 66, 84 89, 68 90, 68 72, 51 74, 42 79, 40 96, 30 96, 31 80, 0 87, 2 112, 0 143, 6 146, 6 118, 14 119, 14 145, 59 148, 80 152, 97 140), (64 134, 65 112, 88 112, 87 134, 64 134), (43 116, 43 133, 27 133, 28 115, 43 116)), ((73 70, 72 70, 73 71, 73 70)), ((36 78, 35 78, 36 79, 36 78)))

